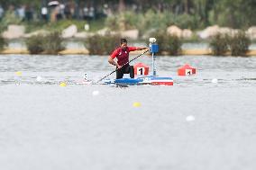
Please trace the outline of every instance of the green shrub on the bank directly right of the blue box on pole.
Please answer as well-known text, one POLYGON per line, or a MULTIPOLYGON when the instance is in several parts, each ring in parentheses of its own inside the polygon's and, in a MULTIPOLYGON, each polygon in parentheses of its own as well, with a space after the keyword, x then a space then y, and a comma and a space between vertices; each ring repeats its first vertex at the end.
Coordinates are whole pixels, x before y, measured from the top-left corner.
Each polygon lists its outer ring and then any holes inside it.
POLYGON ((182 40, 175 35, 167 35, 165 31, 160 31, 154 34, 152 37, 157 39, 157 43, 160 47, 160 54, 168 52, 171 56, 180 54, 182 40))

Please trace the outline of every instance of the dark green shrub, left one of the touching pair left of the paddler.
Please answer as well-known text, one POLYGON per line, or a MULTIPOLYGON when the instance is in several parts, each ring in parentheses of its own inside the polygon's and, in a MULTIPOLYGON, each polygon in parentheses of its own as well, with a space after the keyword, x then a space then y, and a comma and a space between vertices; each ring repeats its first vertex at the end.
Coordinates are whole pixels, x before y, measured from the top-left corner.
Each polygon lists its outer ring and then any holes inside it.
POLYGON ((31 54, 39 54, 43 51, 44 36, 34 35, 26 40, 27 49, 31 54))

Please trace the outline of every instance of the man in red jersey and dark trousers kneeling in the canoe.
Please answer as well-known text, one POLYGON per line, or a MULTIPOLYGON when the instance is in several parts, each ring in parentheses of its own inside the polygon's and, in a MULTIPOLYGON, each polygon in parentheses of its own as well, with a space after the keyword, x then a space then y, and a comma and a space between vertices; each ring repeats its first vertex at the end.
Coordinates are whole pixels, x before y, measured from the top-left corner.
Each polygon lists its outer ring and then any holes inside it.
POLYGON ((123 78, 123 74, 130 74, 130 77, 134 78, 134 68, 128 63, 129 52, 142 49, 148 48, 128 47, 127 40, 121 39, 120 47, 115 49, 108 58, 108 62, 116 67, 116 79, 123 78), (114 61, 114 58, 117 58, 117 63, 114 61))

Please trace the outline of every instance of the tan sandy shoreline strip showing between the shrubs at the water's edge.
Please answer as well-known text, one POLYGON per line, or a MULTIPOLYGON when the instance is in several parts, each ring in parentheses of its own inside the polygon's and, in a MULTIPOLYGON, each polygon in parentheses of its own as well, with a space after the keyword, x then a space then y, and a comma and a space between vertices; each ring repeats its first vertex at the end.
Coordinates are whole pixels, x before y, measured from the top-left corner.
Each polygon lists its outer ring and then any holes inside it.
MULTIPOLYGON (((131 55, 139 55, 141 51, 132 51, 131 55)), ((10 55, 10 54, 30 54, 27 49, 3 49, 0 51, 1 55, 10 55)), ((59 51, 58 55, 89 55, 87 49, 64 49, 59 51)), ((47 55, 45 53, 37 55, 47 55)), ((168 54, 166 54, 168 55, 168 54)), ((182 49, 179 56, 214 56, 210 49, 182 49)), ((230 52, 226 53, 224 56, 231 56, 230 52)), ((256 49, 251 49, 246 53, 246 57, 256 57, 256 49)))

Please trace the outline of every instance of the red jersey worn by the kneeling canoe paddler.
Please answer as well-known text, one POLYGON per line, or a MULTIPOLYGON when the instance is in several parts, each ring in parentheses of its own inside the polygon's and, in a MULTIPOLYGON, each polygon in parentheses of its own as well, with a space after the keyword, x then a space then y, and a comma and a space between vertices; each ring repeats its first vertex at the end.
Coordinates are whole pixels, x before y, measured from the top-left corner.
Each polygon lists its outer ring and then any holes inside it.
POLYGON ((123 66, 129 62, 129 52, 136 49, 136 47, 127 47, 126 49, 118 48, 114 50, 110 57, 113 59, 117 58, 118 65, 123 66))

